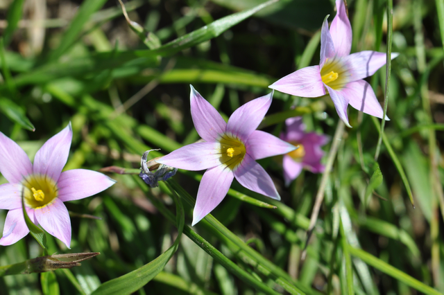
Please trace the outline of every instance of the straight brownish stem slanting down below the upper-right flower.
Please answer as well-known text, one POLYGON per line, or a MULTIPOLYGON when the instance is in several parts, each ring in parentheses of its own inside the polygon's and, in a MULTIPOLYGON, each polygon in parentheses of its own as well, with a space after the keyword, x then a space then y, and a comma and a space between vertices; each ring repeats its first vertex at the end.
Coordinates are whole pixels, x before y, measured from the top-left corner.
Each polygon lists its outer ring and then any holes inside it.
POLYGON ((342 120, 339 120, 336 126, 336 131, 334 132, 332 147, 328 154, 327 164, 325 165, 325 170, 322 175, 321 185, 319 186, 318 193, 316 194, 316 201, 314 202, 313 211, 311 212, 310 224, 307 230, 307 240, 305 242, 305 249, 302 252, 302 260, 307 256, 307 245, 310 240, 311 234, 313 233, 316 220, 318 220, 319 210, 321 209, 321 204, 324 199, 325 186, 327 186, 327 180, 330 176, 330 171, 332 170, 334 159, 336 159, 336 153, 338 152, 339 143, 341 143, 344 134, 345 124, 342 120))

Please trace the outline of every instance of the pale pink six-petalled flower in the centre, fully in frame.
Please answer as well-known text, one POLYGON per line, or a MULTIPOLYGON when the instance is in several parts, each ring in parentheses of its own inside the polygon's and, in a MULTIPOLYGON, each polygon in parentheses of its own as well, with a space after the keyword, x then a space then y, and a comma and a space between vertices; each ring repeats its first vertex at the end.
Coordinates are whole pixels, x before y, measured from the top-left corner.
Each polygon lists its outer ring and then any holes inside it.
POLYGON ((156 161, 185 170, 207 169, 200 181, 192 225, 221 203, 234 177, 250 190, 280 199, 271 177, 255 161, 296 149, 256 130, 271 105, 272 96, 270 93, 247 102, 225 123, 210 102, 191 86, 191 117, 205 142, 185 145, 156 161))

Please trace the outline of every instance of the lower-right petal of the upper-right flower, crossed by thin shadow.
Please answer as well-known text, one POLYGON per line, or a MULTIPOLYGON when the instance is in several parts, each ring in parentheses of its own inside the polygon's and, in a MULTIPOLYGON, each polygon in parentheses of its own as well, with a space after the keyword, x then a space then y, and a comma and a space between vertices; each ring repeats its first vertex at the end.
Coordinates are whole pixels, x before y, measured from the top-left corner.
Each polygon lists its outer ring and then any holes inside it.
MULTIPOLYGON (((350 105, 366 114, 382 118, 384 111, 375 96, 375 92, 368 82, 357 80, 347 84, 347 87, 341 89, 343 96, 348 97, 350 105)), ((386 120, 390 120, 386 116, 386 120)))

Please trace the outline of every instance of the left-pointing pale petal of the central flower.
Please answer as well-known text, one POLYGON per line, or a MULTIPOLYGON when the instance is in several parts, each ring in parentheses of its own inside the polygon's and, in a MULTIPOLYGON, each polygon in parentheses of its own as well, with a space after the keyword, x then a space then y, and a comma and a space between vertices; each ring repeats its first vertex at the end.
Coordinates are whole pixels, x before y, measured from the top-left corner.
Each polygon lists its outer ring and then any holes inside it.
POLYGON ((192 143, 156 160, 174 168, 204 170, 221 165, 221 143, 192 143))

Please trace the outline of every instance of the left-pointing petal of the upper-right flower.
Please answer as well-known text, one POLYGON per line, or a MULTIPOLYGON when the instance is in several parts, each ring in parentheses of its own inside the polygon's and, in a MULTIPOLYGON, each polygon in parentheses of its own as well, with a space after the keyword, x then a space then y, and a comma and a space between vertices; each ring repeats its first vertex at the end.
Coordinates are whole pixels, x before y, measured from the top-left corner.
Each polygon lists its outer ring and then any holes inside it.
POLYGON ((302 68, 286 75, 284 78, 280 78, 280 80, 268 87, 283 93, 289 93, 292 96, 306 98, 316 98, 325 95, 319 66, 302 68))

